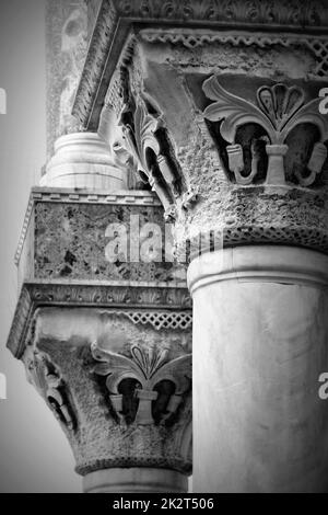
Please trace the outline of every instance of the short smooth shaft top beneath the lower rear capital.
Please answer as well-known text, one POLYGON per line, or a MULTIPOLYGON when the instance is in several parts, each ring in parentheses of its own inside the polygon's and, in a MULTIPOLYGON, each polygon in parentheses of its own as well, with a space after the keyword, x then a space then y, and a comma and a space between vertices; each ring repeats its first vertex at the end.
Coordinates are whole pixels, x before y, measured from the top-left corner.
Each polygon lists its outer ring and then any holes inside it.
POLYGON ((83 478, 85 493, 186 493, 188 478, 167 469, 105 469, 83 478))

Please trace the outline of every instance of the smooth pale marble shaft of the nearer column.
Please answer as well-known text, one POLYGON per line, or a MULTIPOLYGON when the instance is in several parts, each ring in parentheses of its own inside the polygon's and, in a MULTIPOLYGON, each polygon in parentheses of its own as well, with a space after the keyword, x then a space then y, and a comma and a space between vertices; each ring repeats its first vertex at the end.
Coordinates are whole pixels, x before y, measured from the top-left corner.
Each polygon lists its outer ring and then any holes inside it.
POLYGON ((226 249, 188 281, 195 492, 327 492, 328 258, 226 249))

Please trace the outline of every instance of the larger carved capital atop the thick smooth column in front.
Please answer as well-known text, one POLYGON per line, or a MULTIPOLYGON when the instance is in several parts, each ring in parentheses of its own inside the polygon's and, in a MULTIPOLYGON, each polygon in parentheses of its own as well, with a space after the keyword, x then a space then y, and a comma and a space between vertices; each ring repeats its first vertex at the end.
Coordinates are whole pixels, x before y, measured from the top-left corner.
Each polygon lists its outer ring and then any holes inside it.
MULTIPOLYGON (((119 126, 119 148, 174 224, 181 261, 250 243, 327 252, 327 37, 301 30, 293 7, 281 12, 293 34, 283 19, 250 34, 238 5, 234 31, 204 19, 156 28, 150 15, 110 49, 117 70, 97 91, 115 112, 112 134, 119 126)), ((85 126, 102 129, 105 113, 87 112, 85 126)))

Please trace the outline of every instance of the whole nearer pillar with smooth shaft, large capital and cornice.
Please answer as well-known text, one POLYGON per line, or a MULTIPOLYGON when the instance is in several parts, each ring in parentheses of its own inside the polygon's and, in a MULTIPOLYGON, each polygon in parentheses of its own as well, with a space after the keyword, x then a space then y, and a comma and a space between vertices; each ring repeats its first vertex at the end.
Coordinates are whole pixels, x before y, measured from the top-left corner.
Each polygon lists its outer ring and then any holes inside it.
POLYGON ((195 491, 327 491, 328 11, 244 3, 104 1, 73 111, 190 259, 195 491))

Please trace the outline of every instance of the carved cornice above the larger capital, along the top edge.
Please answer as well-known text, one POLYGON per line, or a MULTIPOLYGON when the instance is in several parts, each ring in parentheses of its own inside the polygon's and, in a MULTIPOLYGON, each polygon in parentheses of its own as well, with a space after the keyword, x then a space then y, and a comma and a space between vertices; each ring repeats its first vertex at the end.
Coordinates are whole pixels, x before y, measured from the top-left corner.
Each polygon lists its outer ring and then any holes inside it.
POLYGON ((72 111, 89 130, 97 128, 110 78, 136 24, 325 34, 328 7, 320 0, 103 0, 72 111))

